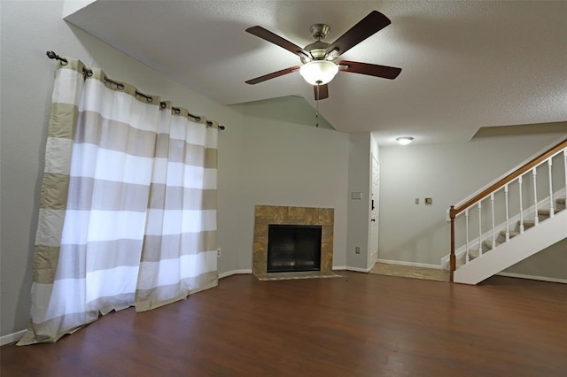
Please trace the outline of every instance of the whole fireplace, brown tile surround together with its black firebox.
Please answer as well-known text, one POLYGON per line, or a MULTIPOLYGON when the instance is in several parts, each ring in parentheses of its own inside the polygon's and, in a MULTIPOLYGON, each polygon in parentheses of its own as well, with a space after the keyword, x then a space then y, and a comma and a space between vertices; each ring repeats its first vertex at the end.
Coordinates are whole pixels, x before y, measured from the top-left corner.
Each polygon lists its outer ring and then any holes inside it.
MULTIPOLYGON (((334 210, 332 208, 256 205, 254 217, 252 273, 259 276, 276 272, 278 269, 277 273, 303 273, 296 268, 300 268, 300 265, 304 265, 304 268, 307 268, 306 265, 308 265, 309 270, 301 271, 320 271, 322 274, 332 274, 334 227, 334 210), (299 252, 296 250, 291 254, 288 253, 288 256, 279 258, 280 260, 276 262, 276 265, 272 263, 272 266, 269 268, 270 271, 268 271, 268 238, 271 237, 270 228, 276 228, 274 226, 302 227, 304 230, 313 227, 320 228, 321 233, 318 236, 320 246, 319 252, 316 253, 319 258, 318 267, 315 267, 317 264, 315 261, 316 257, 313 263, 309 262, 307 264, 303 257, 297 257, 299 252)), ((290 236, 288 235, 287 237, 289 238, 290 236)), ((286 248, 290 249, 291 246, 288 245, 286 248)))

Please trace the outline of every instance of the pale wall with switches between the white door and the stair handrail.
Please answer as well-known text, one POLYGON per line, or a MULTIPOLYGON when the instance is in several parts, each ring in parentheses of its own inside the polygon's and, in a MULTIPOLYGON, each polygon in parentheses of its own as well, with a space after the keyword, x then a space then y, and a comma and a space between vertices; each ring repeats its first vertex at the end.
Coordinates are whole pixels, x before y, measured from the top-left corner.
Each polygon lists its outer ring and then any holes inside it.
MULTIPOLYGON (((565 136, 382 147, 379 258, 439 265, 449 251, 449 206, 565 136), (424 205, 425 197, 432 197, 433 204, 424 205)), ((565 265, 567 257, 563 260, 565 265)))

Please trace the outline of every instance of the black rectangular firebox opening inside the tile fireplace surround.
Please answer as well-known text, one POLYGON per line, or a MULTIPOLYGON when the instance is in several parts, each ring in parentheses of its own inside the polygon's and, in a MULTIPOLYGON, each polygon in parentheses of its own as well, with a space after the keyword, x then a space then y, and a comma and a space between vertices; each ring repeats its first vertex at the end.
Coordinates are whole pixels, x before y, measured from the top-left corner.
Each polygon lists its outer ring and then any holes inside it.
POLYGON ((268 273, 321 270, 321 226, 268 225, 268 273))

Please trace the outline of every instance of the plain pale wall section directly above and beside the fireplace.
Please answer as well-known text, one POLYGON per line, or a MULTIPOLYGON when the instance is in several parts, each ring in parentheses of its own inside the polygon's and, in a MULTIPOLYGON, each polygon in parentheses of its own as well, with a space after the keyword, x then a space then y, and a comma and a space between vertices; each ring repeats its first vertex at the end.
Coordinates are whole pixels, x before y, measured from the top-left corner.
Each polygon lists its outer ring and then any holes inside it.
POLYGON ((335 209, 333 265, 345 265, 348 135, 246 116, 239 268, 251 268, 256 204, 335 209))

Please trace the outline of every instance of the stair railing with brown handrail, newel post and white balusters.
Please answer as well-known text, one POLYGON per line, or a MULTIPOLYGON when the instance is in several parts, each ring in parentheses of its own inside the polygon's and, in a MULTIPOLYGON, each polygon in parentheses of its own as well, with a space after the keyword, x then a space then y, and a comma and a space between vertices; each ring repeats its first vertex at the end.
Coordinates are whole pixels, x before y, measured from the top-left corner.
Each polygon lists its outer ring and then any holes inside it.
MULTIPOLYGON (((567 196, 567 139, 563 140, 563 142, 558 143, 554 147, 550 148, 549 150, 540 154, 540 156, 533 158, 531 161, 527 162, 526 164, 518 167, 514 172, 509 173, 500 181, 493 183, 493 185, 489 186, 482 190, 478 195, 471 197, 465 203, 455 207, 451 205, 449 209, 449 218, 451 220, 451 253, 449 254, 449 268, 450 268, 450 281, 454 281, 454 271, 456 269, 456 255, 454 249, 455 243, 455 235, 454 235, 454 227, 455 227, 455 219, 461 213, 464 213, 465 216, 465 223, 466 223, 466 238, 465 238, 465 247, 466 247, 466 262, 470 261, 469 258, 469 217, 470 217, 470 210, 477 207, 478 210, 478 258, 482 256, 482 201, 490 197, 491 203, 491 216, 492 216, 492 246, 493 248, 496 245, 496 231, 494 226, 494 193, 501 188, 504 189, 504 197, 506 201, 505 211, 506 211, 506 229, 505 229, 505 239, 508 242, 510 238, 510 229, 509 229, 509 184, 513 181, 518 181, 518 189, 519 189, 519 230, 520 233, 524 233, 524 203, 523 203, 523 193, 522 193, 522 186, 524 184, 524 177, 529 179, 530 177, 527 174, 532 173, 532 181, 533 181, 533 204, 534 204, 534 226, 539 224, 539 217, 538 217, 538 196, 537 196, 537 167, 543 165, 545 163, 548 164, 548 177, 549 177, 549 217, 553 217, 555 214, 554 203, 553 203, 553 180, 552 180, 552 166, 553 162, 552 159, 563 152, 563 167, 565 170, 565 195, 567 196)), ((526 180, 528 181, 528 180, 526 180)))

